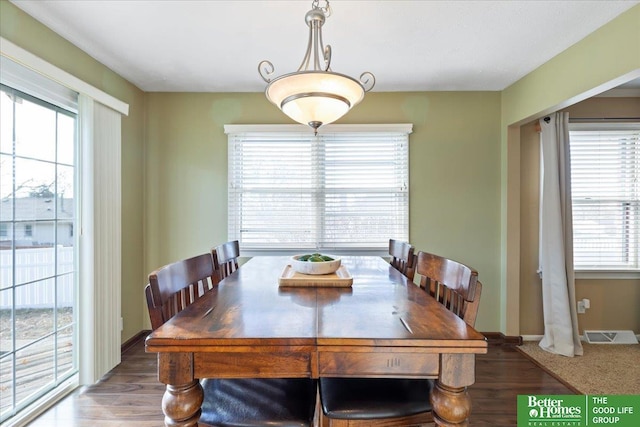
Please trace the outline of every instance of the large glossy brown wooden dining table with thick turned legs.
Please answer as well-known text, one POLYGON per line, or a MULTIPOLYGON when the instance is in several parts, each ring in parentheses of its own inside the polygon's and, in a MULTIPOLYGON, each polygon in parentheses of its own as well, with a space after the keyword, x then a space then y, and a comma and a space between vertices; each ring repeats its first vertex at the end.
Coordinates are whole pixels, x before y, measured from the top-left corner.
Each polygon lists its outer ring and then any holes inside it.
POLYGON ((343 257, 350 287, 279 286, 288 257, 259 256, 146 339, 167 426, 196 425, 201 378, 436 380, 436 425, 468 424, 485 337, 381 257, 343 257))

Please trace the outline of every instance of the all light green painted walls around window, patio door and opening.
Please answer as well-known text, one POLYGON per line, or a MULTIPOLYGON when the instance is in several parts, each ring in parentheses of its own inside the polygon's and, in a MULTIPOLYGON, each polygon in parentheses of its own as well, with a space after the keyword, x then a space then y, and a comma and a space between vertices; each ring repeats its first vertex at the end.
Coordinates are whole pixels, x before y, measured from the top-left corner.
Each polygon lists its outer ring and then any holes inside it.
MULTIPOLYGON (((6 0, 0 35, 130 106, 122 122, 126 340, 148 325, 148 272, 226 240, 223 125, 289 122, 263 94, 145 94, 6 0)), ((507 126, 638 70, 635 6, 502 93, 370 93, 341 121, 413 123, 410 239, 480 271, 478 329, 504 332, 509 322, 507 126)))

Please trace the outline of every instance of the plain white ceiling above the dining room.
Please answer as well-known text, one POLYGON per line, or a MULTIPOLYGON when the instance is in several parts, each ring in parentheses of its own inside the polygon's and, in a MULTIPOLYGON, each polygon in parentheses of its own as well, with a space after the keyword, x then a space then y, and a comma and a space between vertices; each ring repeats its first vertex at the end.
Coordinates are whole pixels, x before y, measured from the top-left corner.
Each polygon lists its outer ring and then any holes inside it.
MULTIPOLYGON (((259 92, 295 71, 311 0, 12 0, 144 91, 259 92)), ((333 0, 333 71, 374 91, 502 90, 636 1, 333 0)))

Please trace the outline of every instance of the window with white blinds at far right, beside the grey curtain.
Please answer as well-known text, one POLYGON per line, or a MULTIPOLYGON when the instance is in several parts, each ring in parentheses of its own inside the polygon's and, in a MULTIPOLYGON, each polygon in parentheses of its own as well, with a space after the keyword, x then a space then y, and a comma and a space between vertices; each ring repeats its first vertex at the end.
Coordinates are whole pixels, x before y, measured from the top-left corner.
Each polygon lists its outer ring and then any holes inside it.
POLYGON ((576 270, 640 271, 640 123, 572 123, 576 270))

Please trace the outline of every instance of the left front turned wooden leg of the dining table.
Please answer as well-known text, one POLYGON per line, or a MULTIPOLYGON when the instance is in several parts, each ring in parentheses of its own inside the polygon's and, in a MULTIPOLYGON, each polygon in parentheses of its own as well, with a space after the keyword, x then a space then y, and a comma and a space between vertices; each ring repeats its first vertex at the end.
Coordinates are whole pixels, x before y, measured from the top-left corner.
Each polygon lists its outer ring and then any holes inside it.
POLYGON ((204 391, 193 377, 193 354, 158 353, 158 379, 167 385, 162 397, 165 426, 197 426, 204 391))

